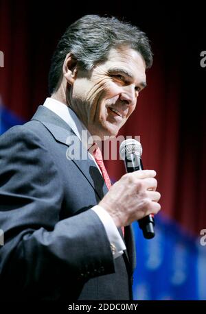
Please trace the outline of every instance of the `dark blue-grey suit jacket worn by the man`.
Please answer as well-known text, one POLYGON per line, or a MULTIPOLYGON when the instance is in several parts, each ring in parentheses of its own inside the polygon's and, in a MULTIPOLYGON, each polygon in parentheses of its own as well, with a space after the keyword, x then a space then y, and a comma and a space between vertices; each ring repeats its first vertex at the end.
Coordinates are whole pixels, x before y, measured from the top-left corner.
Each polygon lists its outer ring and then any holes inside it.
POLYGON ((113 261, 104 226, 90 209, 107 188, 93 160, 66 157, 71 135, 65 121, 40 106, 31 121, 0 137, 2 300, 132 298, 131 229, 128 252, 113 261))

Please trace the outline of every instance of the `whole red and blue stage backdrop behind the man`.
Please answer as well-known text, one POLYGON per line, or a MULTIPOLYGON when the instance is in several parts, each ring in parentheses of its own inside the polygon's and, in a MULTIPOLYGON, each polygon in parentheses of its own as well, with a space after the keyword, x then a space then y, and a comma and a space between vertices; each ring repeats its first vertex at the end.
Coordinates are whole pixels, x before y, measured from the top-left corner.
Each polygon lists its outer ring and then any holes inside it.
MULTIPOLYGON (((206 246, 201 242, 201 230, 206 229, 206 68, 200 63, 206 27, 200 6, 187 4, 187 10, 181 10, 155 1, 150 6, 139 4, 137 13, 125 8, 123 1, 80 9, 68 1, 44 8, 42 1, 0 0, 1 133, 29 120, 49 96, 52 52, 67 25, 78 17, 124 16, 151 40, 155 62, 147 73, 148 87, 119 133, 141 136, 144 168, 157 171, 162 195, 156 237, 144 240, 133 224, 137 300, 206 300, 206 246)), ((113 182, 125 172, 122 160, 105 163, 113 182)))

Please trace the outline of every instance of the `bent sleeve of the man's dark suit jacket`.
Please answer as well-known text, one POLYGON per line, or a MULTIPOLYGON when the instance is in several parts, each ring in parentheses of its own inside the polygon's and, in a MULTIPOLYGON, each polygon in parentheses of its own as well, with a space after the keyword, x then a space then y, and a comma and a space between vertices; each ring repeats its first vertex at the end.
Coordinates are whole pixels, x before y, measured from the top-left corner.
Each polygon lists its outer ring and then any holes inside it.
POLYGON ((34 291, 51 295, 56 287, 71 289, 115 271, 104 226, 93 210, 59 221, 63 191, 41 138, 25 126, 1 136, 0 229, 5 244, 0 247, 0 286, 4 292, 8 287, 28 295, 34 291))

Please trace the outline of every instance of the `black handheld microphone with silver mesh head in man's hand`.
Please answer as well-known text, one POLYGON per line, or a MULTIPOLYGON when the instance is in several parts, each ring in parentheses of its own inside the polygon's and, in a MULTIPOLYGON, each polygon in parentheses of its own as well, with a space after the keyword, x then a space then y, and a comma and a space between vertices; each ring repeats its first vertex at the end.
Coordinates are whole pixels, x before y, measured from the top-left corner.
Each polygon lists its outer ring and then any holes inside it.
MULTIPOLYGON (((141 161, 142 147, 139 141, 128 138, 124 140, 119 147, 119 155, 124 160, 126 172, 130 173, 136 170, 143 170, 141 161)), ((150 214, 138 220, 139 228, 141 228, 146 239, 155 237, 155 219, 154 215, 150 214)))

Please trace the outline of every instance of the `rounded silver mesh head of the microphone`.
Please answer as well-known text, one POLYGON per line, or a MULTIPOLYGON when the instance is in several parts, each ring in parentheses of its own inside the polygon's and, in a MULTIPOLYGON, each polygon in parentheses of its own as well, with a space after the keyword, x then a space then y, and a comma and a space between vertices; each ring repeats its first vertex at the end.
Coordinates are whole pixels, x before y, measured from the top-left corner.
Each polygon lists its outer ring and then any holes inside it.
POLYGON ((139 157, 142 154, 141 144, 134 138, 124 140, 119 147, 119 155, 123 160, 130 159, 131 154, 137 154, 139 157))

